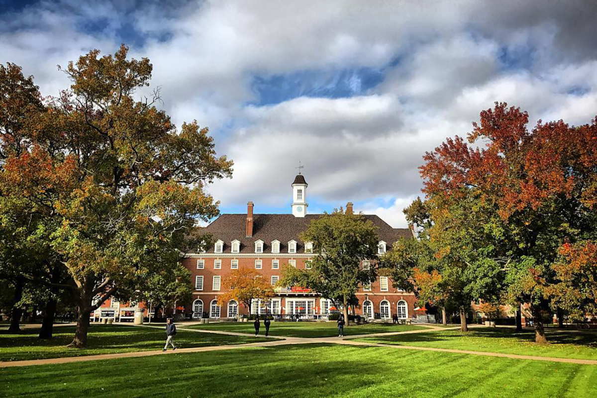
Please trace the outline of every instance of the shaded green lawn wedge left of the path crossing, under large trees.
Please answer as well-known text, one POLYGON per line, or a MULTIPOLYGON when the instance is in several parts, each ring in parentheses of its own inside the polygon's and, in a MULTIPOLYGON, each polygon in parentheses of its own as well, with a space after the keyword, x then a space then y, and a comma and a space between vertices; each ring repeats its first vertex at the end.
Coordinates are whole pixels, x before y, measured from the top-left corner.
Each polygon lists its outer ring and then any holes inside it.
MULTIPOLYGON (((88 348, 67 348, 75 333, 73 326, 54 328, 54 338, 39 340, 39 329, 25 329, 20 334, 0 331, 0 361, 44 359, 96 354, 159 350, 164 347, 166 333, 162 329, 139 326, 94 325, 88 335, 88 348)), ((179 331, 174 340, 179 347, 244 344, 268 341, 265 338, 236 337, 199 332, 179 331)))

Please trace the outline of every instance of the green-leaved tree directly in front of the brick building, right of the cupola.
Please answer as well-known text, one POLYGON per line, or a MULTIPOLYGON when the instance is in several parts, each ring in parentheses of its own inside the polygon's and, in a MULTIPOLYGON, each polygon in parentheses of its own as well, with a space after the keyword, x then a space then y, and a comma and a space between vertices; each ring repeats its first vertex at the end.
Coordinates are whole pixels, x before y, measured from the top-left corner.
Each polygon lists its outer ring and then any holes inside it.
POLYGON ((334 210, 311 221, 301 233, 303 242, 313 242, 311 268, 285 267, 281 284, 310 288, 323 297, 343 304, 349 325, 348 306, 356 298, 359 285, 376 279, 376 265, 361 269, 361 261, 377 257, 377 227, 362 215, 334 210))

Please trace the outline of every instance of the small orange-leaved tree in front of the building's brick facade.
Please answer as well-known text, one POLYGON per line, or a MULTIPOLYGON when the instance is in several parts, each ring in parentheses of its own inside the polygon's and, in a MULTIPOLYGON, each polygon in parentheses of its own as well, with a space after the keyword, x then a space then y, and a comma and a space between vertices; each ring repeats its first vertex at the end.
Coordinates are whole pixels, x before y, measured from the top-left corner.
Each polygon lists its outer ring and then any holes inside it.
MULTIPOLYGON (((251 268, 230 271, 229 274, 224 276, 222 285, 227 292, 218 296, 219 306, 223 306, 227 301, 234 300, 251 311, 253 300, 267 302, 273 297, 272 285, 259 271, 251 268)), ((236 313, 236 316, 240 316, 240 311, 236 313)))

